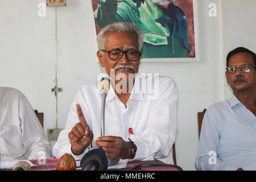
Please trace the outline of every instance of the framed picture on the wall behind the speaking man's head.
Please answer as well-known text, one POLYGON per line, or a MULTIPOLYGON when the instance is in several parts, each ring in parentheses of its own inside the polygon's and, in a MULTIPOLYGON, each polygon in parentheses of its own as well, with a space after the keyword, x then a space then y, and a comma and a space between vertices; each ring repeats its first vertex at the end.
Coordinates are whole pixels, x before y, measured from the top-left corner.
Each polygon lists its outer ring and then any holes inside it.
POLYGON ((113 22, 144 32, 142 62, 199 61, 197 0, 92 0, 96 34, 113 22))

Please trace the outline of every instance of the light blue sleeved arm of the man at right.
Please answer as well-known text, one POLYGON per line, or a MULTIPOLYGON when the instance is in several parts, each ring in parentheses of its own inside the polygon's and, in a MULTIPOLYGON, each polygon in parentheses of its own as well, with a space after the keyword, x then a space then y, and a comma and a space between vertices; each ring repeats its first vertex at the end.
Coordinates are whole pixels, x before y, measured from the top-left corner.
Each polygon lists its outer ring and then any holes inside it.
POLYGON ((204 114, 196 157, 196 167, 199 170, 231 171, 240 168, 218 159, 218 148, 220 146, 219 139, 221 137, 218 122, 220 121, 217 121, 209 108, 204 114))

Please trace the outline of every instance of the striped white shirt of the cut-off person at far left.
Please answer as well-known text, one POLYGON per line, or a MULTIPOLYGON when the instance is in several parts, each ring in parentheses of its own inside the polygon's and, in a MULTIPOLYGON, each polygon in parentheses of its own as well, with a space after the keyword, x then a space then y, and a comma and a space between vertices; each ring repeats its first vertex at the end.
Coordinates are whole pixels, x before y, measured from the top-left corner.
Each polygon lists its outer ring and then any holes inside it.
POLYGON ((51 158, 51 146, 27 98, 13 88, 0 87, 0 157, 51 158))

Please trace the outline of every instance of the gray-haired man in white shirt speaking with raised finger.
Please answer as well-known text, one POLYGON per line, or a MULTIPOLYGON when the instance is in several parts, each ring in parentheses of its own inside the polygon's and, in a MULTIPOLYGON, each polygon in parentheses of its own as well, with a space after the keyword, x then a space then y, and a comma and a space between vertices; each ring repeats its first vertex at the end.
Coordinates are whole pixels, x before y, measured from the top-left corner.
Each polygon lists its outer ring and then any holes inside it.
POLYGON ((92 143, 101 146, 112 159, 159 159, 174 164, 172 146, 176 139, 178 101, 175 81, 170 77, 138 74, 143 31, 132 23, 109 24, 97 35, 97 43, 98 59, 110 76, 105 135, 101 137, 102 97, 97 81, 77 92, 53 155, 60 158, 69 153, 81 159, 92 143))

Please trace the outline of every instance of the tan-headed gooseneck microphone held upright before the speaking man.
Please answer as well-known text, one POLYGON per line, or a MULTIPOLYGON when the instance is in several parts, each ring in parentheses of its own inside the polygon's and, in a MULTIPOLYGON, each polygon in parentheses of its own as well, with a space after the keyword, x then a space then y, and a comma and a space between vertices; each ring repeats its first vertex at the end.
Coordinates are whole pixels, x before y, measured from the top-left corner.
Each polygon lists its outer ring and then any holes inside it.
MULTIPOLYGON (((101 101, 101 137, 105 136, 105 102, 106 94, 109 91, 110 79, 108 77, 101 78, 100 93, 102 94, 101 101)), ((108 157, 108 166, 113 166, 119 162, 119 159, 112 159, 108 157)))

